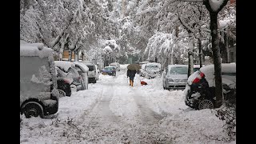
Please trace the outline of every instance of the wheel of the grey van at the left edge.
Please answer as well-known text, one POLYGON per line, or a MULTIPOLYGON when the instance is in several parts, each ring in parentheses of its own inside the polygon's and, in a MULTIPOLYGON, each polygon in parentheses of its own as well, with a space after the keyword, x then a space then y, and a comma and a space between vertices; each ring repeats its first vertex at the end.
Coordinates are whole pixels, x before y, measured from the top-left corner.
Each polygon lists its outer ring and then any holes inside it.
POLYGON ((22 108, 22 114, 25 114, 26 118, 38 117, 38 116, 42 118, 43 109, 39 103, 30 102, 30 103, 27 103, 26 106, 22 108))

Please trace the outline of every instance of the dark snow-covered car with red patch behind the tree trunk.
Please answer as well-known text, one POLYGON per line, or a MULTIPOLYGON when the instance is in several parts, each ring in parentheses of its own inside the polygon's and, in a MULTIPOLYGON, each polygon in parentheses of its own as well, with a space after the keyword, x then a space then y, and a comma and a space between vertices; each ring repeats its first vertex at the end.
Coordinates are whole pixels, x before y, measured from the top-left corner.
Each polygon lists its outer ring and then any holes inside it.
MULTIPOLYGON (((222 87, 224 99, 235 97, 236 64, 222 63, 222 87)), ((215 108, 214 65, 207 65, 191 74, 184 94, 185 104, 196 110, 215 108)))

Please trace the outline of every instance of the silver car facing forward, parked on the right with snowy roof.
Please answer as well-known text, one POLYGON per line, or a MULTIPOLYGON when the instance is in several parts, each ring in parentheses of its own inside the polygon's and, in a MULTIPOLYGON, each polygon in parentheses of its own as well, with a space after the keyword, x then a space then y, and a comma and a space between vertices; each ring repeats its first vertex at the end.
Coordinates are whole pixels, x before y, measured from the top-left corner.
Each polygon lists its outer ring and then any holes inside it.
POLYGON ((187 81, 187 65, 169 65, 163 72, 163 89, 185 89, 187 81))

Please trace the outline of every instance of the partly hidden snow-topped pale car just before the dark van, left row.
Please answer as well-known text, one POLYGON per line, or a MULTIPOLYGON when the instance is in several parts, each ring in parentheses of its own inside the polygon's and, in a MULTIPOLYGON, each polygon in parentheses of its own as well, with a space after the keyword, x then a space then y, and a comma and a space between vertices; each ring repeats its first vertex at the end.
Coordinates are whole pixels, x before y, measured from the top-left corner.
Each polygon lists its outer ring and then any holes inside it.
POLYGON ((85 90, 88 90, 88 72, 89 68, 83 64, 82 62, 73 62, 75 65, 75 69, 78 70, 78 74, 82 77, 82 80, 84 82, 85 90))

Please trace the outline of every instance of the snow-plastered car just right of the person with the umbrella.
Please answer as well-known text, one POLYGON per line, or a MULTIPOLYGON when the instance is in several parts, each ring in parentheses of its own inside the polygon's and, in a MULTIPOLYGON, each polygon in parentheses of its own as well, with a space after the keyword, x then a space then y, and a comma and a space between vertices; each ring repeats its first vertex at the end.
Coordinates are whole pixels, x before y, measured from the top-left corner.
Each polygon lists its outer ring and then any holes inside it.
POLYGON ((157 62, 146 63, 140 70, 140 75, 145 78, 155 78, 159 74, 161 74, 161 64, 157 62))

